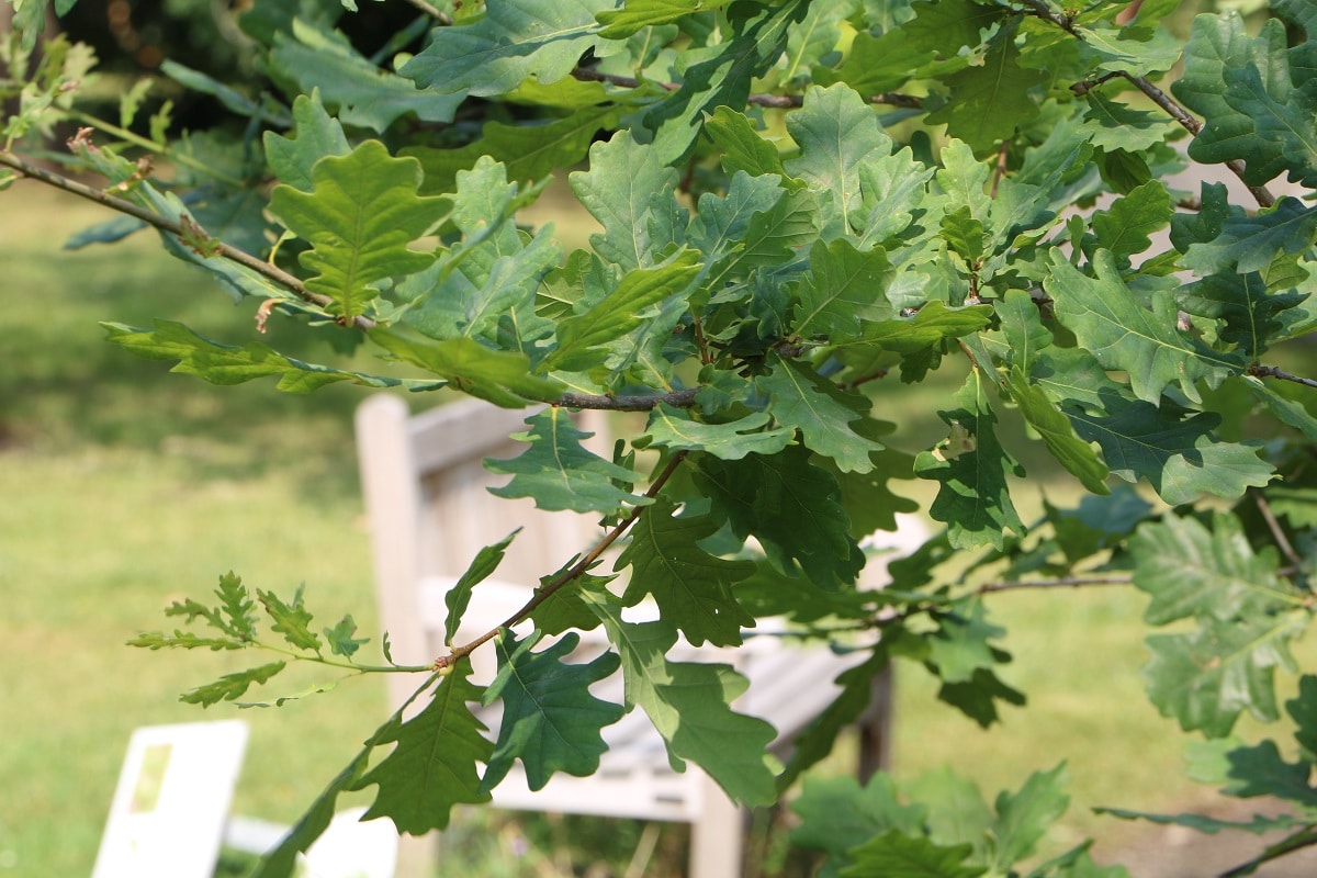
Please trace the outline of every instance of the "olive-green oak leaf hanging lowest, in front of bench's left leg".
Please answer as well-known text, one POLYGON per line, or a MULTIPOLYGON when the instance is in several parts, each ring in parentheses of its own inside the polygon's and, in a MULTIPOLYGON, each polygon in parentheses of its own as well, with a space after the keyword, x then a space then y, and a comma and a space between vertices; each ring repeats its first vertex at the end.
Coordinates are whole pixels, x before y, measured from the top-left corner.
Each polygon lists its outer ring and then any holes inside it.
POLYGON ((469 674, 470 663, 458 662, 420 713, 406 721, 395 713, 367 741, 367 748, 396 746, 350 787, 379 787, 362 820, 389 817, 399 832, 420 836, 446 827, 453 806, 490 800, 477 765, 489 762, 494 745, 468 707, 481 699, 481 688, 466 679, 469 674))

